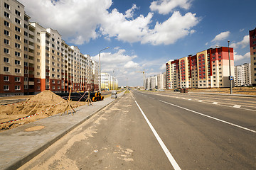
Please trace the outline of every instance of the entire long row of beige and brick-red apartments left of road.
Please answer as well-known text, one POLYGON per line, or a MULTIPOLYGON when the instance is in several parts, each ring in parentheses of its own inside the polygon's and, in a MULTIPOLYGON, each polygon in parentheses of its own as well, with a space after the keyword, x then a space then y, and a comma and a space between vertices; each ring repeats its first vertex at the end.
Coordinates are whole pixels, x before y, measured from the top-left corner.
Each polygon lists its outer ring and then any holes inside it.
POLYGON ((0 8, 0 96, 99 88, 90 55, 69 46, 57 30, 29 22, 18 1, 1 0, 0 8))

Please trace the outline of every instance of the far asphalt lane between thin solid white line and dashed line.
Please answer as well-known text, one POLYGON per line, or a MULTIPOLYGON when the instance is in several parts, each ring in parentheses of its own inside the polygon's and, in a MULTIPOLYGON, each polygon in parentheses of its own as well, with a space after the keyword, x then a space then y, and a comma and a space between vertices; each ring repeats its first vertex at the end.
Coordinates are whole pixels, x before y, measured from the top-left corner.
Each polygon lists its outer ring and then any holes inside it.
POLYGON ((220 120, 225 120, 236 125, 240 125, 251 130, 256 130, 256 112, 247 111, 242 108, 233 108, 227 106, 214 105, 212 103, 203 103, 198 101, 188 101, 180 98, 171 98, 168 96, 159 96, 157 94, 147 94, 158 100, 173 103, 183 108, 188 108, 198 113, 213 116, 220 120))

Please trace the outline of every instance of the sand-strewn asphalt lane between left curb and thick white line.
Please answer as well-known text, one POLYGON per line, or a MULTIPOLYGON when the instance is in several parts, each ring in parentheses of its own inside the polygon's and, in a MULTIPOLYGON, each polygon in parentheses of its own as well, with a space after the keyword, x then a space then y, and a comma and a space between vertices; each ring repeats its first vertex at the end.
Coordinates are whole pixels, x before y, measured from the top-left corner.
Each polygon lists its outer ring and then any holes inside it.
POLYGON ((125 94, 21 169, 172 169, 172 166, 132 94, 125 94))

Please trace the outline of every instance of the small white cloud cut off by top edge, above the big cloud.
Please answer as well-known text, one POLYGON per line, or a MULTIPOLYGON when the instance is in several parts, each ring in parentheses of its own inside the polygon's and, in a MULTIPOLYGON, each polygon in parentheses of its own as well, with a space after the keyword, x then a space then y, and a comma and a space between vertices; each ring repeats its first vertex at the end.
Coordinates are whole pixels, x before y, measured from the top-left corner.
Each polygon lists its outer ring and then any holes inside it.
POLYGON ((158 11, 160 14, 171 13, 174 8, 188 9, 191 7, 191 0, 157 0, 151 2, 151 11, 158 11))

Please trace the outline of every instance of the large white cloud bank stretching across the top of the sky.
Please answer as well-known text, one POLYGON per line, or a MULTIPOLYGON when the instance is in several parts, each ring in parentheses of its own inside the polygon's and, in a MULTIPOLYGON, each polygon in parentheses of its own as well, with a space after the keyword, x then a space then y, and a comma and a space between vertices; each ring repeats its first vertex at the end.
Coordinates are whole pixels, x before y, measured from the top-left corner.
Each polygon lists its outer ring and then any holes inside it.
MULTIPOLYGON (((199 22, 196 14, 186 13, 181 16, 181 13, 176 11, 169 19, 163 23, 157 22, 154 26, 152 23, 154 13, 147 13, 146 16, 138 15, 134 18, 134 12, 138 9, 135 4, 125 13, 120 13, 117 8, 109 11, 112 0, 20 1, 25 5, 31 21, 36 21, 43 27, 58 30, 64 40, 76 45, 90 42, 102 35, 106 40, 116 38, 130 43, 169 45, 186 35, 195 33, 196 30, 191 28, 199 22)), ((152 4, 154 3, 156 6, 166 3, 172 6, 169 9, 189 8, 191 5, 190 0, 154 1, 152 4)))

